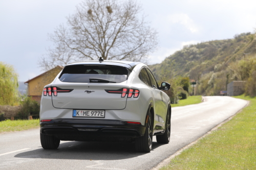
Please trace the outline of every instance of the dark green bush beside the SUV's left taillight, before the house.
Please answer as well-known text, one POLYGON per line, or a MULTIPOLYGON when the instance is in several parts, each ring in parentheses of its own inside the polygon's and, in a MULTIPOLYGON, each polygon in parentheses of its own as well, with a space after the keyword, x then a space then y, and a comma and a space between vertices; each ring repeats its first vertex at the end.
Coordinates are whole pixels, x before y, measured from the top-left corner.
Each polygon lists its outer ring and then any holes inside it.
POLYGON ((32 100, 31 97, 23 96, 21 102, 22 108, 18 112, 18 116, 27 117, 29 115, 38 115, 40 111, 40 105, 32 100))

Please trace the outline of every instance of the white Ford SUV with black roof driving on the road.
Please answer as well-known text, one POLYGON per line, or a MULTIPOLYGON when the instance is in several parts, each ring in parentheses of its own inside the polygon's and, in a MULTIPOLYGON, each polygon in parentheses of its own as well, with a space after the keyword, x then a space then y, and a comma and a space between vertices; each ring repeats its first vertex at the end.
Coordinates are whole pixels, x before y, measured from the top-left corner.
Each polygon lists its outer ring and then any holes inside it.
POLYGON ((60 140, 131 141, 150 152, 152 137, 170 139, 170 99, 140 62, 80 61, 68 64, 44 87, 40 107, 42 148, 60 140))

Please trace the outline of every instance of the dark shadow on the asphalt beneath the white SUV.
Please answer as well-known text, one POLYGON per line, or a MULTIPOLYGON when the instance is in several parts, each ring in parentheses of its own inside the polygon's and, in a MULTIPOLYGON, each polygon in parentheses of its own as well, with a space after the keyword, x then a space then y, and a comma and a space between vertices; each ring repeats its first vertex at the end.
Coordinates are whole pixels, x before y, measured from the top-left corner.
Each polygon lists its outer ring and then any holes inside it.
MULTIPOLYGON (((152 151, 162 144, 153 142, 152 151)), ((57 150, 42 148, 15 155, 16 158, 76 159, 76 160, 120 160, 145 155, 135 151, 134 143, 81 142, 60 143, 57 150)))

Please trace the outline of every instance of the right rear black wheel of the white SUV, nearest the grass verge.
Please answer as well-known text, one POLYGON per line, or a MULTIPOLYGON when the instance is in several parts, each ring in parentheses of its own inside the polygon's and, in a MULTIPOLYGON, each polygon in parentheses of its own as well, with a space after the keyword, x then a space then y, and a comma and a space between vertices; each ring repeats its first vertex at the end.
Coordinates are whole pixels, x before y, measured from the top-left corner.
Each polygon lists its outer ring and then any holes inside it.
POLYGON ((153 120, 151 113, 148 115, 144 136, 136 138, 135 146, 137 152, 150 152, 153 141, 153 120))

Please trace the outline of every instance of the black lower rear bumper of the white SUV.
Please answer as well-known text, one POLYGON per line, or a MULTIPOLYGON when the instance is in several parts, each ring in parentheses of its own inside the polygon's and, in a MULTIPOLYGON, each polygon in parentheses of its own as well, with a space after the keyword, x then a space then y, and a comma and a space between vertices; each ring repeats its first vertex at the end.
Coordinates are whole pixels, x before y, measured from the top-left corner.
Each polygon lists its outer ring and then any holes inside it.
POLYGON ((145 126, 110 119, 53 119, 40 123, 40 133, 61 140, 127 140, 142 136, 145 126))

